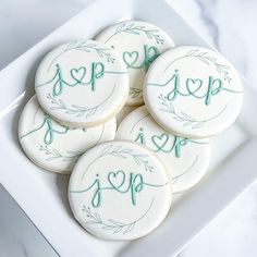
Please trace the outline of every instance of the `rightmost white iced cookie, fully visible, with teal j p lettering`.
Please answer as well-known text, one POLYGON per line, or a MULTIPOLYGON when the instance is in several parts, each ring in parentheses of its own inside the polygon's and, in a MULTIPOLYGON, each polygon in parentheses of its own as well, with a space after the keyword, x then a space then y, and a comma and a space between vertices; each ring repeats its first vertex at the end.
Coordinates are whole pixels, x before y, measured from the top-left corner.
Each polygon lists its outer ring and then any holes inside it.
POLYGON ((219 53, 186 46, 164 52, 151 65, 144 100, 166 130, 200 138, 233 124, 241 111, 243 86, 235 69, 219 53))

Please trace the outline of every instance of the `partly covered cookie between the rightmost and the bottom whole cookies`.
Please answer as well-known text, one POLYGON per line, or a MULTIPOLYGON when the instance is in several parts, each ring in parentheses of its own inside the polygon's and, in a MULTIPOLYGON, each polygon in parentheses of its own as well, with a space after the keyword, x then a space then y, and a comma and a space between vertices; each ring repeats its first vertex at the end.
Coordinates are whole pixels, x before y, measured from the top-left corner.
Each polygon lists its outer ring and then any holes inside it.
POLYGON ((196 185, 209 166, 208 139, 189 139, 168 133, 155 122, 145 106, 121 122, 115 138, 137 142, 154 150, 167 167, 174 193, 196 185))

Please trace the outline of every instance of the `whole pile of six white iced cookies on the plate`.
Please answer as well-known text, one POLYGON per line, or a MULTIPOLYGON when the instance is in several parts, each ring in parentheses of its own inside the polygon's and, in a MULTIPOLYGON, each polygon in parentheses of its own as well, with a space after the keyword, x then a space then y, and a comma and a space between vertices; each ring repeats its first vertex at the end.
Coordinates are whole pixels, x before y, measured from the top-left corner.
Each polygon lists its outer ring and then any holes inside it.
POLYGON ((135 240, 168 215, 173 195, 205 176, 209 138, 240 114, 243 86, 219 53, 174 47, 159 27, 125 21, 95 40, 50 51, 19 126, 37 166, 71 174, 76 220, 106 240, 135 240))

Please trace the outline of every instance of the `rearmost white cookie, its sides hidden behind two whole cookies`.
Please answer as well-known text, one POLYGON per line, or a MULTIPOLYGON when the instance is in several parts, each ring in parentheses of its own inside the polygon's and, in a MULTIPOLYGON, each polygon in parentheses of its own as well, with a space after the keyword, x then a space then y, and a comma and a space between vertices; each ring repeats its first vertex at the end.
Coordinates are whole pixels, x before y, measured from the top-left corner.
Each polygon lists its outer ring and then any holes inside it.
POLYGON ((146 22, 125 21, 107 27, 96 40, 108 44, 120 53, 130 74, 127 105, 142 105, 146 71, 160 53, 174 46, 169 35, 146 22))

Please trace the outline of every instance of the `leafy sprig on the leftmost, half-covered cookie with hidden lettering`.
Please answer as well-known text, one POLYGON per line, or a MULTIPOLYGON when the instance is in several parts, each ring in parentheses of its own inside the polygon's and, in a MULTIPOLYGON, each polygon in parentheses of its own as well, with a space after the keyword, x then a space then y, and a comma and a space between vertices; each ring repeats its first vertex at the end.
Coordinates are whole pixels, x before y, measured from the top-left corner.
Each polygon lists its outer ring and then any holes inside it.
POLYGON ((50 148, 47 145, 40 145, 39 150, 45 151, 46 156, 48 156, 46 159, 47 161, 61 159, 62 161, 76 162, 77 159, 84 154, 84 151, 68 151, 66 155, 63 155, 58 149, 50 148))

